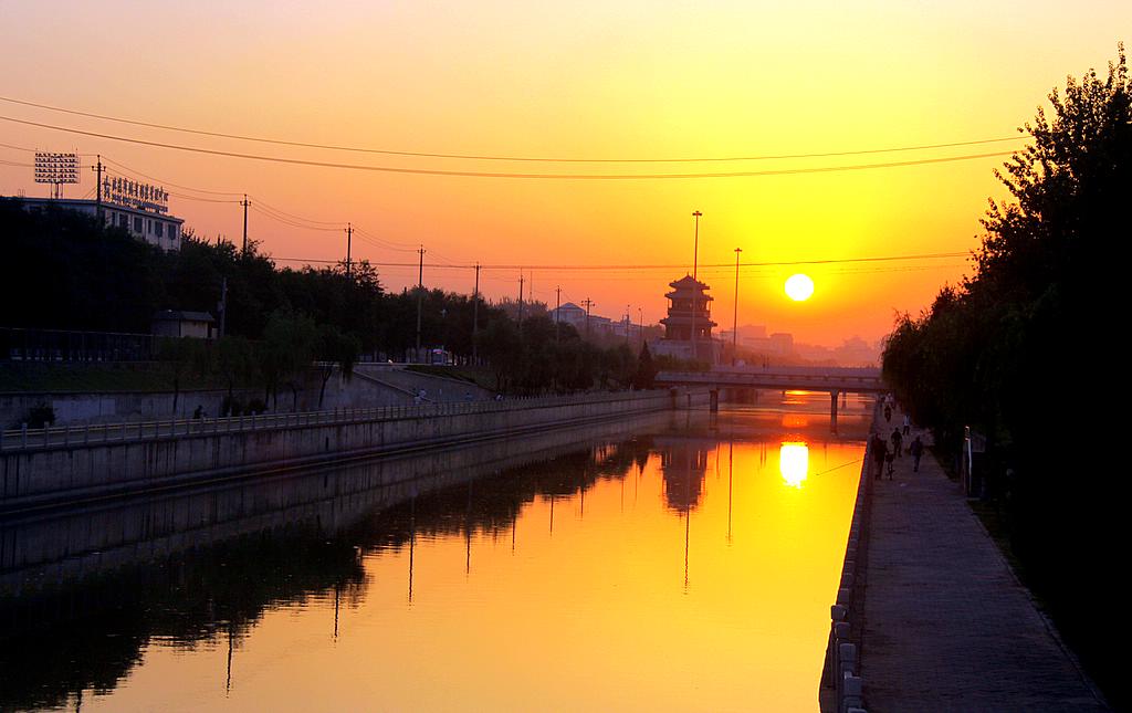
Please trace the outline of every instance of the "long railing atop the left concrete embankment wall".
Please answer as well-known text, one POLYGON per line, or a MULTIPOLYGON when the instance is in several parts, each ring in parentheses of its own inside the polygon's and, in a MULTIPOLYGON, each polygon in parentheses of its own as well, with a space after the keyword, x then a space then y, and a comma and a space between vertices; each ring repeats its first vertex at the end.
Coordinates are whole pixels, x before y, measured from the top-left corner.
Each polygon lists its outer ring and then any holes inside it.
POLYGON ((531 396, 505 401, 472 401, 429 403, 411 406, 377 406, 372 409, 335 409, 333 411, 300 411, 294 413, 255 414, 200 419, 169 419, 156 421, 122 421, 88 426, 52 426, 0 430, 0 452, 44 448, 68 448, 101 444, 121 444, 162 438, 212 436, 241 431, 265 431, 288 428, 307 428, 359 423, 365 421, 394 421, 434 416, 498 413, 540 406, 572 406, 643 398, 668 398, 668 392, 624 392, 584 394, 576 396, 531 396))

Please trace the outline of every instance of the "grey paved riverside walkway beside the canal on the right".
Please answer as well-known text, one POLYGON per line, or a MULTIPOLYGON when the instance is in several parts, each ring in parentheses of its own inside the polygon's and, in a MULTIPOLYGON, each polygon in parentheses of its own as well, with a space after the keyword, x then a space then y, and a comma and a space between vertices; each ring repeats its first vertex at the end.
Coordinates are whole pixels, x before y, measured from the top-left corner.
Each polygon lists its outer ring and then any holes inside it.
POLYGON ((914 473, 906 453, 893 480, 873 484, 860 655, 871 713, 1108 710, 931 454, 914 473))

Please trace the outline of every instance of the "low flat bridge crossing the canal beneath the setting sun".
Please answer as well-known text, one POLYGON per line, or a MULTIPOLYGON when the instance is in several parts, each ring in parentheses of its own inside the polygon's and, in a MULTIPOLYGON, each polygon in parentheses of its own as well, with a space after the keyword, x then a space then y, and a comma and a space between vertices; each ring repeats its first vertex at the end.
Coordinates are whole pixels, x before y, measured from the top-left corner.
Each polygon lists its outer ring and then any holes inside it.
POLYGON ((838 397, 843 393, 881 394, 887 390, 881 370, 868 367, 717 367, 711 371, 661 371, 658 387, 700 387, 711 393, 711 409, 719 409, 721 389, 829 392, 830 428, 838 430, 838 397))

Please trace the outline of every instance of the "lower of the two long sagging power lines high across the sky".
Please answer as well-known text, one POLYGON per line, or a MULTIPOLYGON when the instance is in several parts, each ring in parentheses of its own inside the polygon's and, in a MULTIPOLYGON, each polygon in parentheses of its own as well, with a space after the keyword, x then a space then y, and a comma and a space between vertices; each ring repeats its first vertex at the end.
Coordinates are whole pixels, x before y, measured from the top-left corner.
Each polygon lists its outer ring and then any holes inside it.
POLYGON ((726 171, 718 173, 496 173, 488 171, 441 171, 434 169, 402 169, 394 166, 378 166, 355 163, 333 163, 327 161, 307 161, 302 158, 286 158, 283 156, 265 156, 260 154, 243 154, 239 152, 218 151, 213 148, 201 148, 199 146, 182 146, 180 144, 166 144, 163 141, 148 141, 145 139, 115 136, 112 134, 100 134, 97 131, 84 131, 68 127, 59 127, 38 121, 27 121, 25 119, 14 119, 0 115, 0 120, 12 123, 22 123, 41 129, 63 131, 67 134, 78 134, 94 138, 123 141, 127 144, 138 144, 142 146, 154 146, 157 148, 170 148, 189 153, 206 154, 211 156, 228 156, 232 158, 246 158, 249 161, 266 161, 269 163, 284 163, 291 165, 317 166, 324 169, 343 169, 350 171, 371 171, 378 173, 398 173, 411 175, 449 175, 457 178, 495 178, 495 179, 542 179, 542 180, 661 180, 661 179, 714 179, 714 178, 755 178, 767 175, 794 175, 801 173, 832 173, 840 171, 864 171, 869 169, 894 169, 900 166, 928 165, 934 163, 951 163, 955 161, 971 161, 976 158, 990 158, 995 156, 1011 156, 1014 152, 992 152, 986 154, 968 154, 962 156, 944 156, 937 158, 917 158, 912 161, 891 161, 886 163, 851 164, 843 166, 811 166, 805 169, 777 169, 767 171, 726 171))

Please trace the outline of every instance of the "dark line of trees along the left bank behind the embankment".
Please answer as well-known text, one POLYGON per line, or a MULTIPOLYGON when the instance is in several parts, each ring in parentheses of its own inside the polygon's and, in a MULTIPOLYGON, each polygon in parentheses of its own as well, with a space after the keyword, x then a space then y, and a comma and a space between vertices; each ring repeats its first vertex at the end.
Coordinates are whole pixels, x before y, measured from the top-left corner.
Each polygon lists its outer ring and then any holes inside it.
MULTIPOLYGON (((500 392, 651 387, 654 373, 646 353, 586 342, 572 326, 555 325, 544 306, 524 311, 520 323, 507 309, 514 306, 439 289, 388 292, 366 260, 349 270, 344 263, 281 268, 256 242, 243 250, 190 230, 179 251, 166 252, 93 216, 51 207, 28 212, 18 199, 0 199, 0 232, 8 256, 0 267, 3 326, 148 333, 160 310, 218 318, 223 298, 224 338, 207 347, 168 342, 163 359, 178 370, 207 370, 230 392, 259 384, 260 409, 276 405, 281 393, 297 401, 312 363, 349 373, 362 355, 398 360, 411 353, 418 301, 422 347, 443 346, 465 363, 478 356, 500 392)), ((329 371, 320 369, 325 388, 329 371)))

